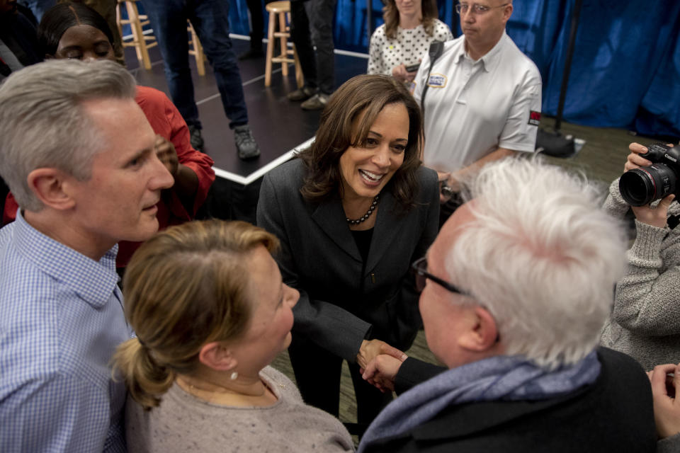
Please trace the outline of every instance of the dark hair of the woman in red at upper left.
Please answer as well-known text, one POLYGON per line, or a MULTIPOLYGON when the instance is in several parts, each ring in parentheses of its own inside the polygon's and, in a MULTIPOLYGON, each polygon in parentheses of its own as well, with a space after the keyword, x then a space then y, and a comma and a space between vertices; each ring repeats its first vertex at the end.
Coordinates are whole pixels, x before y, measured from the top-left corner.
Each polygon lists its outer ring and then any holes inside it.
POLYGON ((101 14, 84 4, 67 2, 52 6, 42 15, 38 25, 38 45, 42 55, 55 55, 62 35, 76 25, 90 25, 101 30, 113 46, 113 33, 101 14))

